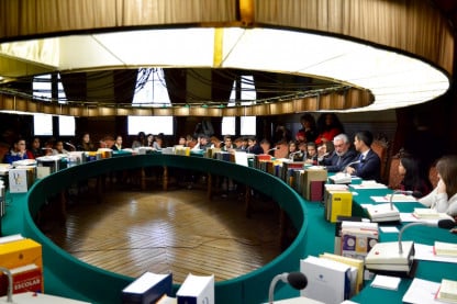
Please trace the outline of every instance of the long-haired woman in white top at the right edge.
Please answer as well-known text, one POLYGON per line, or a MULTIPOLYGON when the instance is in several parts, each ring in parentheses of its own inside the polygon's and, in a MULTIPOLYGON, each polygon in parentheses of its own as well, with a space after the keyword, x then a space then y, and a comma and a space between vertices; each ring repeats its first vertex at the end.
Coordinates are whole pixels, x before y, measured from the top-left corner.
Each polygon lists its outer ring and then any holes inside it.
POLYGON ((457 156, 444 156, 436 164, 438 184, 419 200, 425 206, 457 216, 457 156))

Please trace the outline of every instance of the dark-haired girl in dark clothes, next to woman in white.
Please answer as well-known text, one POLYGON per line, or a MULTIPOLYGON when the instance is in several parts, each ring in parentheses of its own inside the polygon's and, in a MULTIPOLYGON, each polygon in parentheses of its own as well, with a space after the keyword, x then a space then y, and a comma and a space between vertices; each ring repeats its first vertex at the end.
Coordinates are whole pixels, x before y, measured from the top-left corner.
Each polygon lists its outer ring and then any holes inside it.
POLYGON ((415 198, 427 195, 432 190, 432 184, 428 179, 421 177, 419 170, 419 162, 412 156, 403 156, 399 162, 399 174, 402 180, 399 184, 399 190, 413 191, 415 198))

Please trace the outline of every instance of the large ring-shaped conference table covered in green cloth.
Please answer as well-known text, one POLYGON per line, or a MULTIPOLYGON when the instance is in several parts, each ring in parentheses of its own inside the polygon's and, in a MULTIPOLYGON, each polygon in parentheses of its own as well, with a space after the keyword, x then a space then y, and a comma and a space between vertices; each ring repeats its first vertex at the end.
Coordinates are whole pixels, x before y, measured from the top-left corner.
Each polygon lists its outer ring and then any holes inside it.
MULTIPOLYGON (((279 178, 228 161, 202 157, 176 155, 118 156, 63 169, 33 184, 27 193, 11 194, 7 214, 2 218, 3 234, 22 234, 43 246, 45 292, 78 299, 92 303, 121 303, 122 290, 135 278, 109 272, 70 256, 62 250, 35 226, 33 217, 49 195, 58 194, 69 184, 98 177, 114 170, 142 167, 177 167, 204 171, 214 176, 226 176, 269 195, 288 214, 298 234, 292 244, 276 259, 263 268, 238 278, 215 283, 215 303, 255 304, 268 301, 268 288, 271 279, 279 273, 298 271, 300 259, 334 251, 335 224, 325 221, 322 202, 304 200, 279 178)), ((361 204, 374 203, 371 195, 386 195, 389 189, 354 190, 353 215, 366 216, 361 204)), ((419 203, 395 203, 400 212, 412 212, 419 203)), ((382 224, 381 224, 382 226, 382 224)), ((398 225, 401 227, 401 224, 398 225)), ((279 232, 278 232, 279 233, 279 232)), ((379 234, 380 241, 397 241, 398 234, 379 234)), ((457 235, 448 230, 414 226, 405 230, 403 240, 433 245, 435 240, 457 243, 457 235)), ((457 280, 457 263, 419 261, 416 278, 441 282, 443 278, 457 280)), ((356 303, 402 303, 404 292, 412 279, 402 279, 398 291, 369 286, 352 300, 356 303)), ((174 292, 179 285, 174 286, 174 292)), ((299 292, 287 284, 277 286, 275 299, 298 296, 299 292)))

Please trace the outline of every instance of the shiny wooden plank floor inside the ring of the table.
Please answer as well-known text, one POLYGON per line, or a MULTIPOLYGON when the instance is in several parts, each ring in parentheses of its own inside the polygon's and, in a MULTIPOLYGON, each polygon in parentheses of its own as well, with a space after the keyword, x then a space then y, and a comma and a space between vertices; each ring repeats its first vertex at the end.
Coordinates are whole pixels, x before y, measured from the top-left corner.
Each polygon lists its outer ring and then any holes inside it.
POLYGON ((236 194, 214 196, 203 189, 166 192, 111 189, 103 202, 89 194, 67 207, 65 225, 43 232, 76 258, 136 278, 145 271, 214 274, 216 281, 254 271, 280 252, 278 207, 257 200, 250 218, 236 194))

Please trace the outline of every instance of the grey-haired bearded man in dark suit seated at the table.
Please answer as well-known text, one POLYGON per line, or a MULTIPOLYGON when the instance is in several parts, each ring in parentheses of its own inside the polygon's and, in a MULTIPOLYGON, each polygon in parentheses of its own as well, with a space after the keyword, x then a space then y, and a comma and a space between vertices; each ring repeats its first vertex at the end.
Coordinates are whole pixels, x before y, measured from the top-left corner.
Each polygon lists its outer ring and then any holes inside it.
POLYGON ((353 161, 357 153, 350 148, 349 138, 346 134, 338 134, 333 138, 335 150, 327 157, 319 150, 319 162, 326 167, 328 172, 341 172, 353 161))

